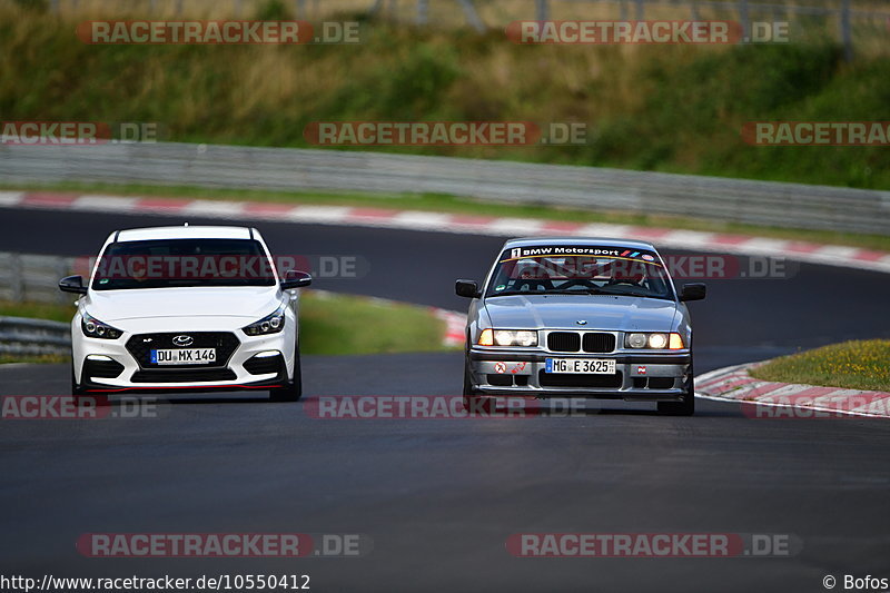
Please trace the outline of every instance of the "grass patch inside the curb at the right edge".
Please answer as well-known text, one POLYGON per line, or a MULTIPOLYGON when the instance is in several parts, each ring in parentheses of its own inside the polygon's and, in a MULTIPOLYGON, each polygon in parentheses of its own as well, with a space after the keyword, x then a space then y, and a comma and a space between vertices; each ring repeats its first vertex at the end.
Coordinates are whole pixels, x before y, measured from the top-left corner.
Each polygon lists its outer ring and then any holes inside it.
POLYGON ((782 383, 890 392, 890 340, 844 342, 783 356, 751 369, 751 376, 782 383))

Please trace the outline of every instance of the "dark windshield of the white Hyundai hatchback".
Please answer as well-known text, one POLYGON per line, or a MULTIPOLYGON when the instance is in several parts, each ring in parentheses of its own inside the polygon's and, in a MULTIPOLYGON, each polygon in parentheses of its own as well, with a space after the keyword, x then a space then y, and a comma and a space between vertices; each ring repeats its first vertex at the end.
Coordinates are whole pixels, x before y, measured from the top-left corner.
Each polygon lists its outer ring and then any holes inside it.
POLYGON ((274 285, 273 264, 253 239, 112 243, 92 278, 93 290, 274 285))

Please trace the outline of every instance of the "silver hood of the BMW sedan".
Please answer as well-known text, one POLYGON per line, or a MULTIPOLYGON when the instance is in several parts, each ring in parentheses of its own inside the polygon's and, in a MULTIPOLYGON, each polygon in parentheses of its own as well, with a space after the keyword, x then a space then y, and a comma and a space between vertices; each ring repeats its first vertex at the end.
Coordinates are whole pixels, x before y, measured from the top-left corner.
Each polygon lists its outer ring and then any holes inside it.
POLYGON ((510 295, 485 299, 485 309, 505 329, 671 332, 676 315, 673 300, 611 295, 510 295))

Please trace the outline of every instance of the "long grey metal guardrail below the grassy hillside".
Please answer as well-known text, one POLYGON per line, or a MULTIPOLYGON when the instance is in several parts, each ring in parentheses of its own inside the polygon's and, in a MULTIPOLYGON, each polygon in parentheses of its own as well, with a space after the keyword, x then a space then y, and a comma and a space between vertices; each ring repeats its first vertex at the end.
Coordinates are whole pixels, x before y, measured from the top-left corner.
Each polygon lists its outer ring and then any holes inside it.
POLYGON ((437 192, 513 204, 890 234, 890 191, 567 165, 187 144, 0 146, 0 182, 437 192))

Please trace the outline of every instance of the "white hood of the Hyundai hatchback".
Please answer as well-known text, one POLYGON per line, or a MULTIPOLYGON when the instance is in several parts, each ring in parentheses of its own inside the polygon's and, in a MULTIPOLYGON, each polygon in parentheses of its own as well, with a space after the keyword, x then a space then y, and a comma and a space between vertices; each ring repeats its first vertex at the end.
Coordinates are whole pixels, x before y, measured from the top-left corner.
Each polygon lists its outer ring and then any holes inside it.
POLYGON ((235 317, 256 322, 279 304, 277 286, 90 290, 83 306, 100 322, 159 317, 235 317))

